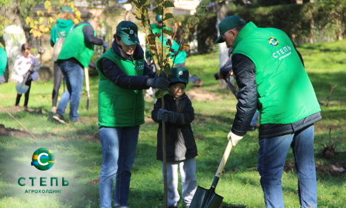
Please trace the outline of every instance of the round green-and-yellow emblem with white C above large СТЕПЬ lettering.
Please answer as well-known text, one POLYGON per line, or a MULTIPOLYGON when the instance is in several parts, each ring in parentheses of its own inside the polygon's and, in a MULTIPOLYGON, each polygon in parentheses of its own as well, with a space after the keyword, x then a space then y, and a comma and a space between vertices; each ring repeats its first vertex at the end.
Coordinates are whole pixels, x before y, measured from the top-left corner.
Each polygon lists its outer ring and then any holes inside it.
POLYGON ((53 167, 55 162, 55 153, 48 148, 39 148, 33 154, 32 166, 39 169, 40 171, 47 171, 53 167))

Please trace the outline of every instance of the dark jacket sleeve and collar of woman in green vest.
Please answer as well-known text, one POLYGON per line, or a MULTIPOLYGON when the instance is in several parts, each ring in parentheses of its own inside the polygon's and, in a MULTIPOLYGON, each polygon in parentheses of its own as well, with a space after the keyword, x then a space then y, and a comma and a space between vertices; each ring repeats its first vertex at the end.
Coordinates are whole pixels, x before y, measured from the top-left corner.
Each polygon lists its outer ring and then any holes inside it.
MULTIPOLYGON (((121 58, 131 60, 131 62, 133 60, 142 59, 144 56, 142 46, 139 44, 137 44, 136 50, 132 55, 127 55, 122 51, 115 40, 113 41, 112 49, 121 58)), ((111 80, 112 83, 123 89, 149 89, 150 86, 147 86, 147 79, 154 78, 156 74, 148 66, 147 62, 145 62, 143 76, 127 76, 124 71, 119 69, 116 63, 112 62, 108 58, 102 59, 102 69, 100 69, 100 71, 105 77, 111 80)))

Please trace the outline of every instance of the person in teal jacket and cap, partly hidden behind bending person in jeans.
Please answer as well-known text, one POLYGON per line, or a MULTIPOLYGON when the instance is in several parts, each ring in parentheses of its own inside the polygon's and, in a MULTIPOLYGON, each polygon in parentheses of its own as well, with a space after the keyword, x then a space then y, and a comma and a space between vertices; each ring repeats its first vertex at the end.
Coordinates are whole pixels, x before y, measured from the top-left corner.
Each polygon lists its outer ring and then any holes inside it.
MULTIPOLYGON (((69 32, 73 28, 73 15, 72 8, 69 6, 64 6, 62 12, 59 14, 59 19, 57 19, 57 24, 55 24, 51 29, 51 46, 54 47, 57 40, 62 37, 67 37, 69 32)), ((52 92, 52 112, 57 112, 57 97, 59 96, 60 85, 62 84, 62 71, 54 61, 54 84, 52 92)))

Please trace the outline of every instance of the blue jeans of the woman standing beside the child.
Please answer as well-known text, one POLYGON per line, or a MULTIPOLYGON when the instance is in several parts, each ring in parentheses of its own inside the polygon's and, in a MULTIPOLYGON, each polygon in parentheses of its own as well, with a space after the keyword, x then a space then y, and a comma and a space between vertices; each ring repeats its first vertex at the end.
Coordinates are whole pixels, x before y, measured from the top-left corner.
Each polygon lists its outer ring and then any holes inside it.
POLYGON ((102 166, 100 172, 101 208, 111 208, 115 177, 115 206, 127 206, 131 180, 130 169, 134 164, 138 134, 139 125, 124 128, 103 126, 100 128, 102 145, 102 166))

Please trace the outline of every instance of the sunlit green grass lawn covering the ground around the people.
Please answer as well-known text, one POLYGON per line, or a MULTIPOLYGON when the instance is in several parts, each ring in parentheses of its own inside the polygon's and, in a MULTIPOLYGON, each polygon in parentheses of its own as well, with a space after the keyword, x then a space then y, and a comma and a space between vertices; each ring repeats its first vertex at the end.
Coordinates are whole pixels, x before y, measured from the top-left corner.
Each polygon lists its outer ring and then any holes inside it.
MULTIPOLYGON (((331 137, 338 146, 336 150, 346 150, 346 41, 298 46, 303 55, 309 77, 321 102, 322 121, 315 125, 316 162, 326 164, 318 153, 322 144, 331 137), (330 87, 337 85, 329 101, 330 87)), ((226 146, 226 135, 235 116, 233 94, 218 86, 213 77, 218 69, 217 53, 197 55, 188 58, 187 68, 203 80, 203 88, 218 94, 218 101, 193 102, 196 119, 192 123, 197 138, 197 180, 198 185, 209 189, 217 166, 226 146)), ((192 87, 188 85, 188 89, 192 87)), ((91 77, 91 109, 86 111, 86 93, 80 101, 80 117, 88 125, 61 125, 53 121, 51 92, 53 80, 33 83, 29 107, 44 109, 44 114, 17 112, 14 116, 31 132, 39 136, 0 137, 0 207, 99 207, 98 184, 87 186, 86 182, 98 179, 102 163, 102 148, 99 142, 90 139, 98 132, 98 77, 91 77), (30 166, 31 157, 37 148, 46 147, 55 153, 55 165, 49 171, 38 171, 30 166), (26 177, 26 186, 17 184, 19 177, 26 177), (59 178, 59 187, 31 187, 28 177, 59 178), (69 186, 62 187, 62 177, 69 180, 69 186), (25 193, 26 189, 62 189, 62 193, 25 193)), ((15 104, 15 83, 0 86, 0 104, 13 107, 15 104)), ((62 88, 60 89, 60 95, 62 88)), ((21 106, 24 97, 21 99, 21 106)), ((146 100, 145 114, 150 116, 152 101, 146 100)), ((69 106, 67 107, 69 112, 69 106)), ((67 114, 66 114, 67 119, 67 114)), ((21 129, 8 114, 0 110, 0 123, 7 128, 21 129)), ((145 123, 140 128, 140 139, 132 168, 129 207, 163 207, 163 184, 161 162, 156 158, 155 123, 145 123)), ((233 148, 224 174, 217 187, 217 193, 224 196, 223 205, 243 207, 264 207, 260 175, 257 169, 258 131, 248 132, 244 139, 233 148)), ((346 160, 339 155, 335 160, 346 160)), ((291 150, 286 162, 293 162, 291 150)), ((319 207, 346 207, 346 177, 318 173, 319 207)), ((300 207, 295 173, 284 173, 282 187, 285 207, 300 207)), ((180 185, 179 185, 180 187, 180 185)), ((181 200, 181 206, 183 202, 181 200)))

